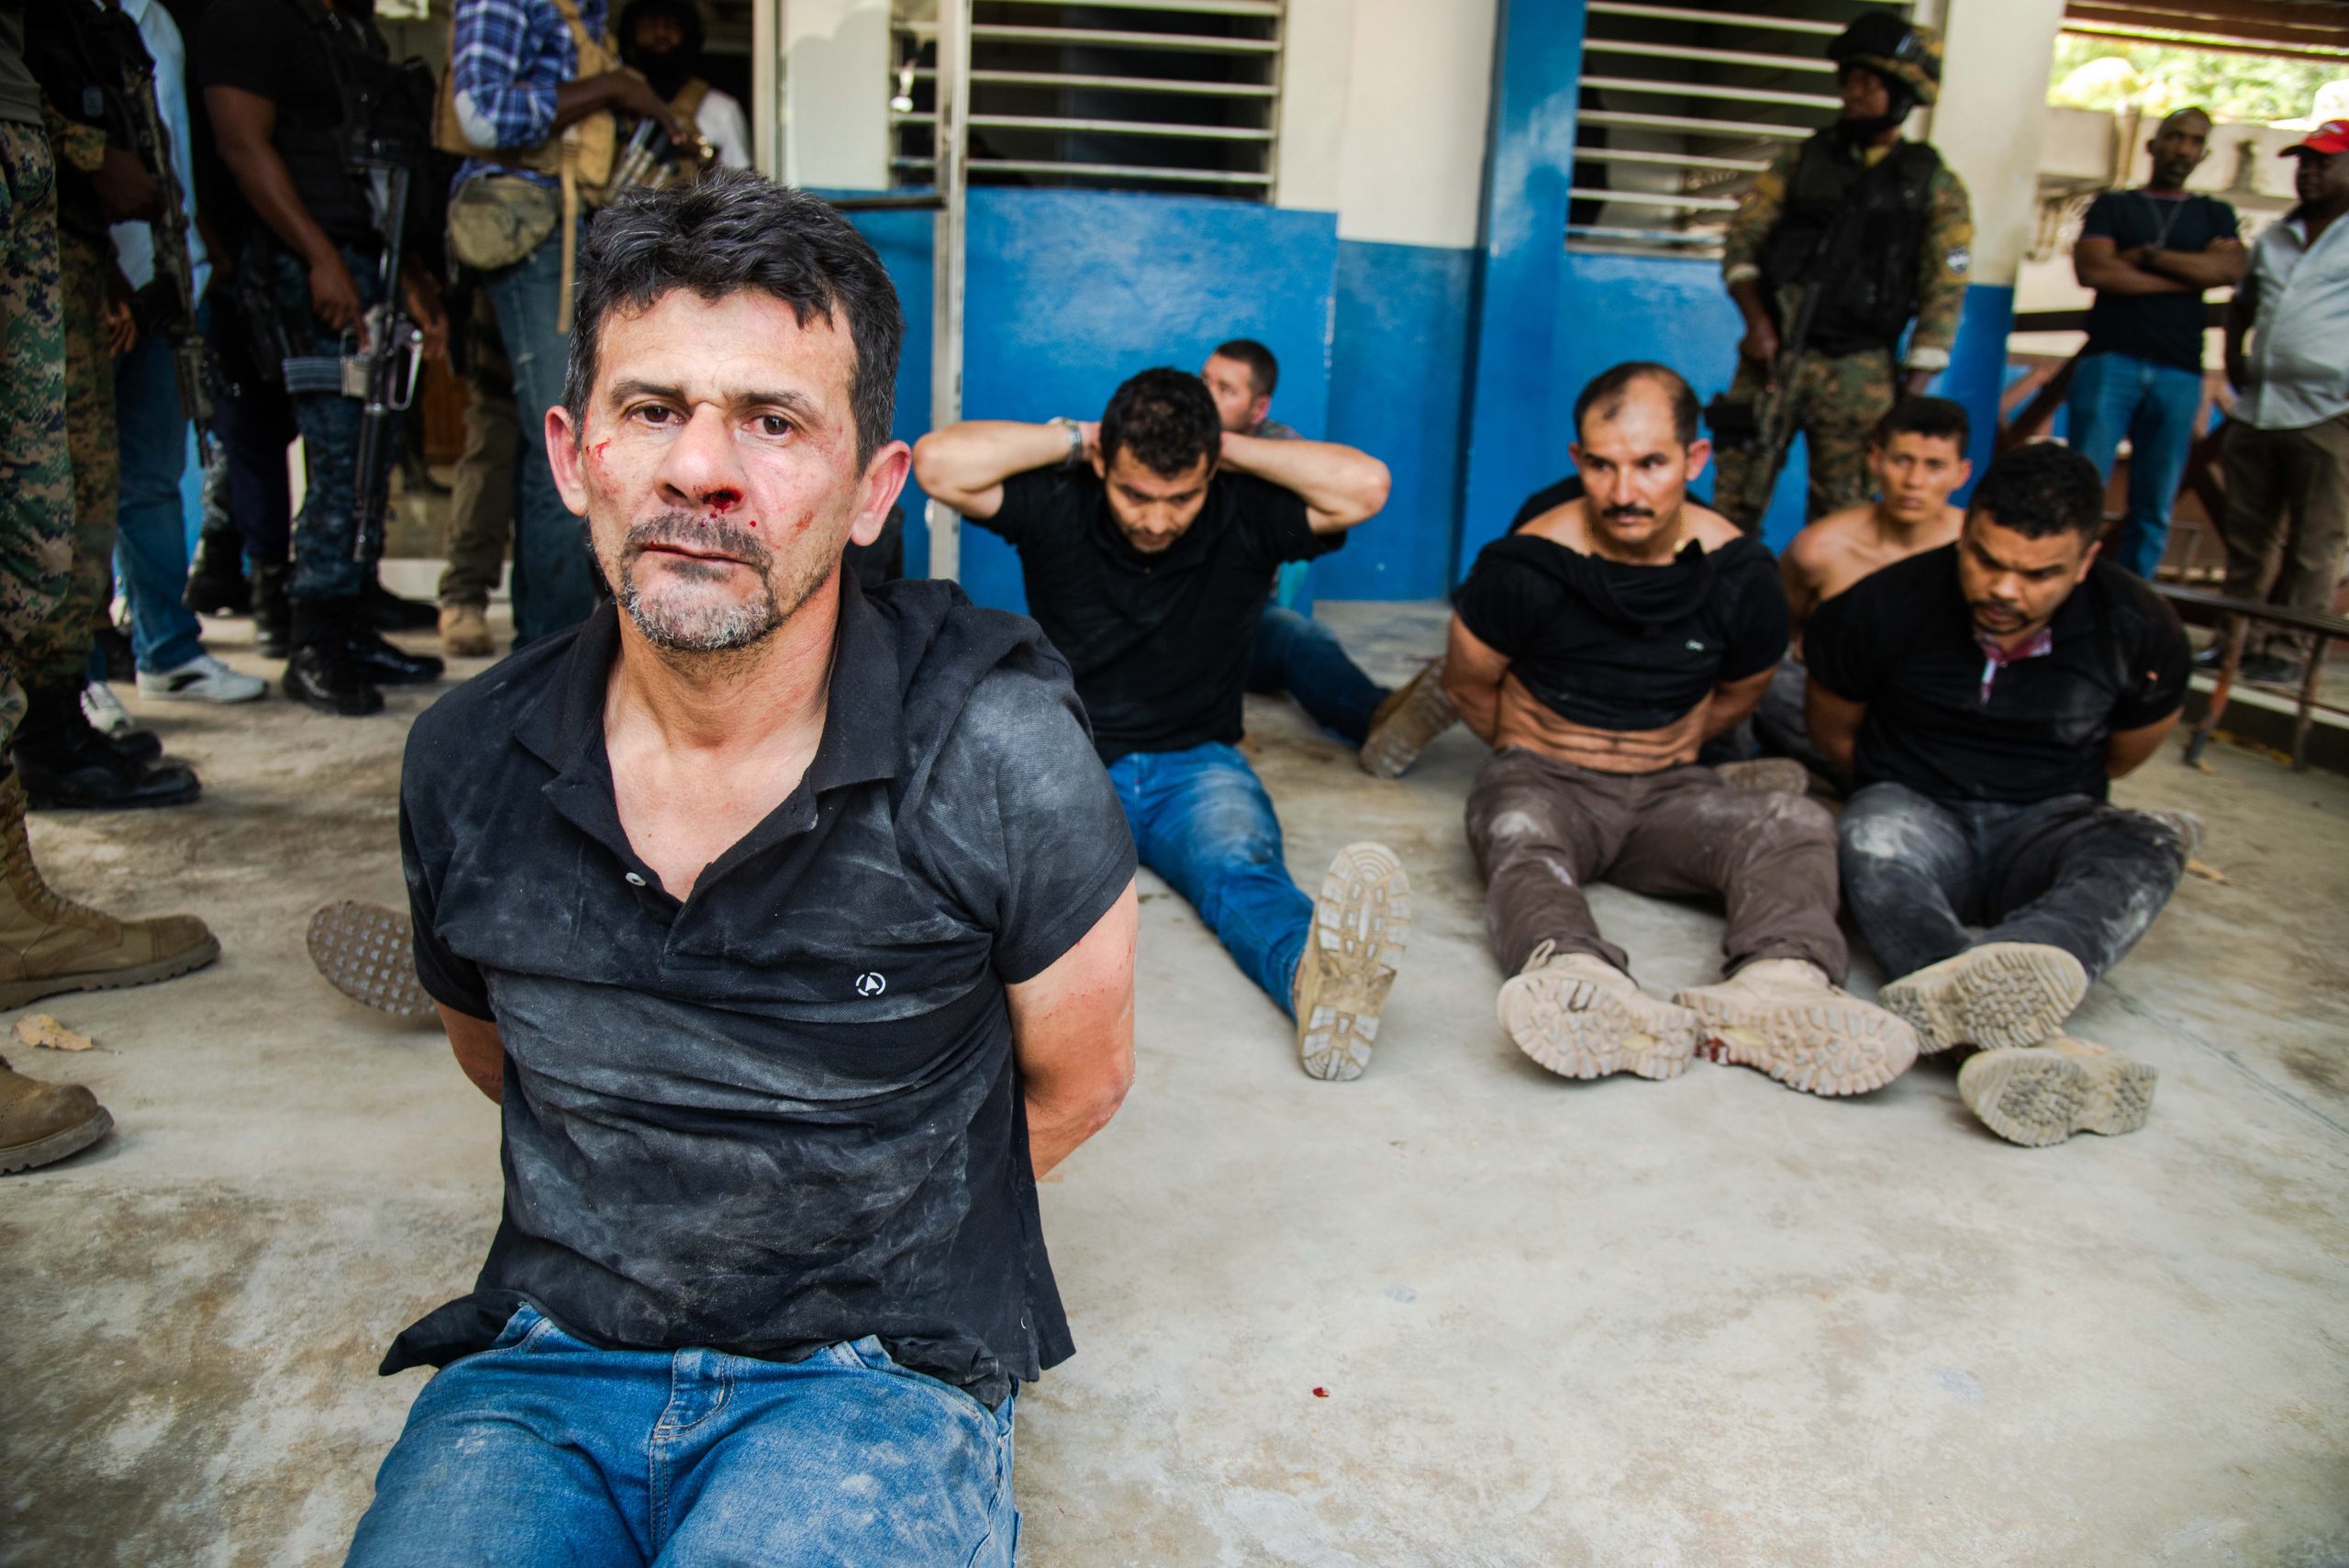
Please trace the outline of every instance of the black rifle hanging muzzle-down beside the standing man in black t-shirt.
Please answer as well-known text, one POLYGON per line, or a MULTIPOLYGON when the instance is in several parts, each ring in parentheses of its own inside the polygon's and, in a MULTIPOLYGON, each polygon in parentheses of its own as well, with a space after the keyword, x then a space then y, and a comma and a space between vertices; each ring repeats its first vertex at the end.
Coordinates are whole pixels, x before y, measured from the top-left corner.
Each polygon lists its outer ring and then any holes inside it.
POLYGON ((390 143, 369 143, 350 160, 352 174, 366 181, 376 232, 383 235, 381 305, 359 317, 357 343, 343 333, 341 354, 294 354, 284 361, 287 392, 336 392, 359 399, 359 451, 350 488, 352 559, 366 559, 371 530, 383 528, 390 505, 392 455, 399 439, 399 415, 416 401, 423 371, 425 333, 409 317, 399 291, 399 263, 409 223, 411 164, 390 143))

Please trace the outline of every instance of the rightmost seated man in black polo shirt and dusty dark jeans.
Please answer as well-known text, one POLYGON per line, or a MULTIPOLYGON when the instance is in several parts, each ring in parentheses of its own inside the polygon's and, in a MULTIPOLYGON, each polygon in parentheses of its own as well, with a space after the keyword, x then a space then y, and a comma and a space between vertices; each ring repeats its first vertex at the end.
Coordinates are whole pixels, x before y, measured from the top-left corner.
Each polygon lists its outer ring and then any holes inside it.
POLYGON ((2105 486, 2062 446, 1983 477, 1957 545, 1811 617, 1811 739, 1851 772, 1844 899, 1884 1005, 1924 1049, 1983 1047, 1957 1077, 2015 1143, 2135 1131, 2154 1070, 2062 1033, 2088 984, 2161 913, 2180 831, 2105 803, 2187 690, 2187 638, 2098 556, 2105 486))

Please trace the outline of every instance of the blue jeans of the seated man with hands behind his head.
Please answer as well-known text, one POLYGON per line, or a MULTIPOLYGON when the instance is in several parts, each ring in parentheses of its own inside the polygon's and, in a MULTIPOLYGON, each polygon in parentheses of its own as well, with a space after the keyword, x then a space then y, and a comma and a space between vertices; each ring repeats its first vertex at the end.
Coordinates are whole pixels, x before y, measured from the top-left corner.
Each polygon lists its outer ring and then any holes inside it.
POLYGON ((1292 1009, 1297 960, 1313 934, 1313 899, 1280 859, 1280 819, 1236 749, 1130 751, 1109 782, 1142 864, 1191 901, 1247 979, 1292 1009))

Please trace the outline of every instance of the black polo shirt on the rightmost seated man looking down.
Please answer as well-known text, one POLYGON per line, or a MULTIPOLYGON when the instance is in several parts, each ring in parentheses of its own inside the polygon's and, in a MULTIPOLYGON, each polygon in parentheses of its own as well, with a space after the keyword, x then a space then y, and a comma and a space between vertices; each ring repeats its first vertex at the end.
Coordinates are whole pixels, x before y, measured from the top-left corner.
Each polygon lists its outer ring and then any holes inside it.
POLYGON ((2088 568, 2048 622, 2053 646, 2004 664, 1985 655, 1957 580, 1957 545, 1860 577, 1811 610, 1811 678, 1865 702, 1853 772, 1936 800, 2105 798, 2105 742, 2187 699, 2189 648, 2170 606, 2109 561, 2088 568))

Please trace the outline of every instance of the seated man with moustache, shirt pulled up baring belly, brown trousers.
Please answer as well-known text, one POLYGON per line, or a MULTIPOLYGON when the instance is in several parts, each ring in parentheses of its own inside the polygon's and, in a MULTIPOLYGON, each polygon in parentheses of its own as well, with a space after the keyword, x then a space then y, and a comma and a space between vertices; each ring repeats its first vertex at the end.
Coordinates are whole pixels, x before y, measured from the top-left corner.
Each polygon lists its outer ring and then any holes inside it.
POLYGON ((1494 540, 1454 596, 1445 688, 1494 756, 1468 845, 1501 1023, 1567 1077, 1677 1077, 1698 1040, 1813 1094, 1863 1094, 1917 1059, 1907 1023, 1837 986, 1835 822, 1731 789, 1696 751, 1736 725, 1785 653, 1759 540, 1687 498, 1710 455, 1696 394, 1618 364, 1574 401, 1588 495, 1494 540), (1729 979, 1647 995, 1583 885, 1722 897, 1729 979))

